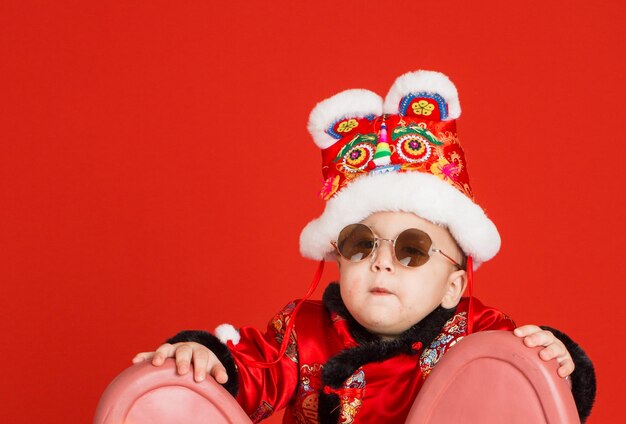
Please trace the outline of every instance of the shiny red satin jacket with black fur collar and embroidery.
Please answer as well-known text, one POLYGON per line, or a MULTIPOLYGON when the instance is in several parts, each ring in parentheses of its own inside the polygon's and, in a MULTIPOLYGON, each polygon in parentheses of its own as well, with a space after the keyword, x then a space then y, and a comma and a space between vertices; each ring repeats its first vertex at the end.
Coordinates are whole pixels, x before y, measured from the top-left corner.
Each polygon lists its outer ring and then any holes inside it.
MULTIPOLYGON (((439 359, 466 335, 468 301, 433 312, 398 340, 381 341, 349 315, 331 284, 324 302, 300 308, 287 351, 270 368, 251 361, 278 357, 295 302, 270 321, 265 333, 240 329, 230 345, 238 369, 237 401, 254 422, 287 408, 284 423, 401 423, 439 359), (421 325, 423 324, 423 325, 421 325)), ((513 321, 474 298, 473 331, 512 330, 513 321)))

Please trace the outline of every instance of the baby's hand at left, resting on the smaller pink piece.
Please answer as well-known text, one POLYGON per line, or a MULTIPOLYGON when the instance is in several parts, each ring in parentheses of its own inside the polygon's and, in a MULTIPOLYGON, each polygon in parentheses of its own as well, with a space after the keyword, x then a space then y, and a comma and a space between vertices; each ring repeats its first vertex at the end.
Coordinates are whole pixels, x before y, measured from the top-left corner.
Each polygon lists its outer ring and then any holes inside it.
POLYGON ((189 372, 193 362, 194 380, 203 381, 206 374, 212 375, 220 384, 228 381, 226 368, 217 359, 217 356, 206 346, 196 342, 165 343, 154 352, 141 352, 133 358, 133 364, 142 361, 152 360, 152 365, 157 367, 163 365, 165 358, 176 358, 176 369, 178 374, 184 375, 189 372))

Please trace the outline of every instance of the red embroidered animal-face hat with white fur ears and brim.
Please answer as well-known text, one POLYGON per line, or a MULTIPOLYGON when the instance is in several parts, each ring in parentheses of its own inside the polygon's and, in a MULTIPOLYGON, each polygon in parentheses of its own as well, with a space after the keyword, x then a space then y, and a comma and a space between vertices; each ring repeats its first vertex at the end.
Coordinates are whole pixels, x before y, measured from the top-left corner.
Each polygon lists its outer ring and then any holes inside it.
POLYGON ((300 235, 321 260, 346 225, 380 211, 413 212, 445 226, 474 268, 496 255, 500 235, 474 201, 456 119, 456 87, 432 71, 399 77, 383 99, 347 90, 320 102, 309 132, 322 149, 326 207, 300 235))

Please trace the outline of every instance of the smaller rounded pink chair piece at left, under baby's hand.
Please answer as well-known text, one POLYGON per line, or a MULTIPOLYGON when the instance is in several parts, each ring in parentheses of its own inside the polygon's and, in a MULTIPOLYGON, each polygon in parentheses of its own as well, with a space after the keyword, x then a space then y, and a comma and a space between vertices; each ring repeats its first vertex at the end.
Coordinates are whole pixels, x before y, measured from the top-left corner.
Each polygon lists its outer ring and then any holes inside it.
POLYGON ((213 378, 201 383, 180 376, 173 359, 155 367, 133 365, 104 391, 94 424, 251 423, 239 404, 213 378))

